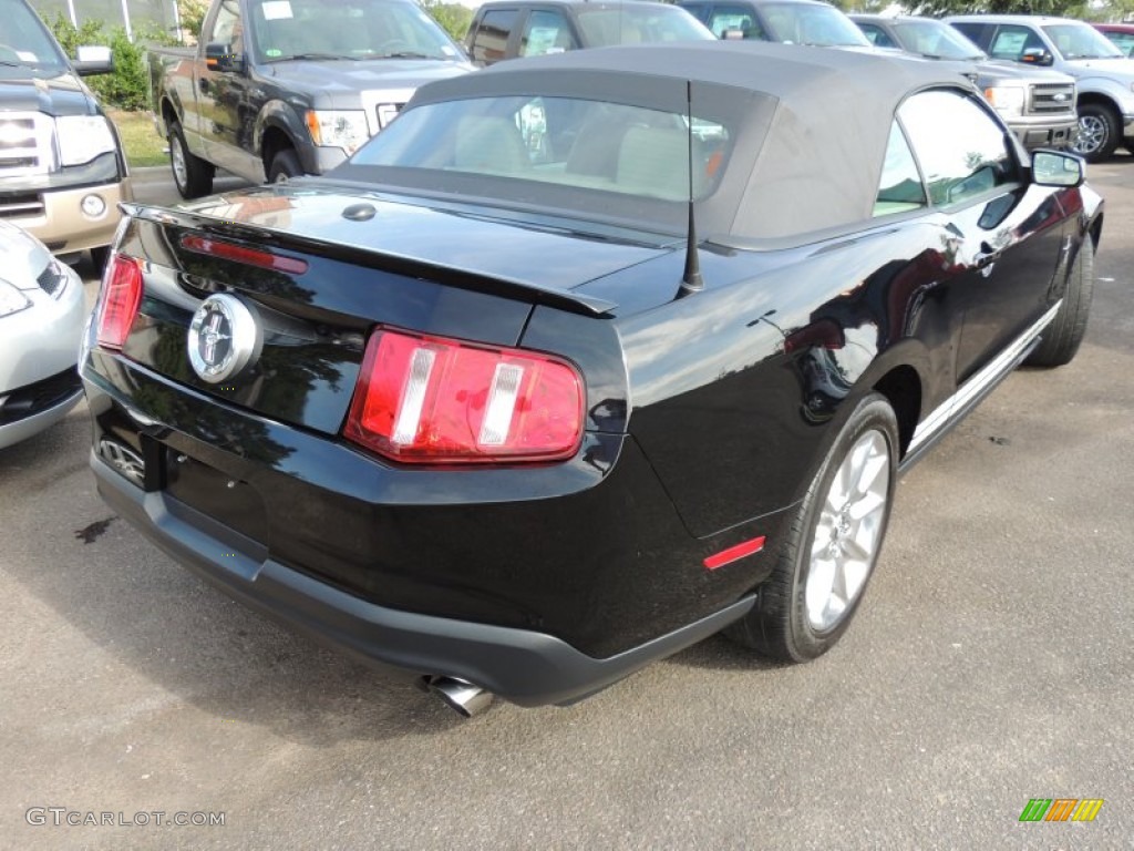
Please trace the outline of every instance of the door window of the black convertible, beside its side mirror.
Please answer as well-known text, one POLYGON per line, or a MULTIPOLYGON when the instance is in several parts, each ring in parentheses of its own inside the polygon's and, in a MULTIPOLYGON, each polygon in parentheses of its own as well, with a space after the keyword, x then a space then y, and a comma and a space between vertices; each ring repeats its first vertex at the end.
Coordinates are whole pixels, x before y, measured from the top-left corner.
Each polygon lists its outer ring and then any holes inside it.
POLYGON ((970 95, 922 92, 902 104, 898 118, 934 204, 964 203, 1016 182, 1004 128, 970 95))

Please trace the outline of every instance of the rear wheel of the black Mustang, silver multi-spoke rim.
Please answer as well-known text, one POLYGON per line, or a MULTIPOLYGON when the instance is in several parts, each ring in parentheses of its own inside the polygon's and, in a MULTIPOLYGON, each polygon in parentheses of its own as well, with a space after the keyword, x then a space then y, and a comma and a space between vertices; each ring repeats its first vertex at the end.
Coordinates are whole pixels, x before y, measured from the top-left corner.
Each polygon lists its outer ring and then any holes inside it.
POLYGON ((778 662, 807 662, 846 632, 881 550, 897 477, 898 422, 877 393, 855 405, 799 505, 755 606, 726 629, 778 662), (840 588, 837 588, 840 585, 840 588))

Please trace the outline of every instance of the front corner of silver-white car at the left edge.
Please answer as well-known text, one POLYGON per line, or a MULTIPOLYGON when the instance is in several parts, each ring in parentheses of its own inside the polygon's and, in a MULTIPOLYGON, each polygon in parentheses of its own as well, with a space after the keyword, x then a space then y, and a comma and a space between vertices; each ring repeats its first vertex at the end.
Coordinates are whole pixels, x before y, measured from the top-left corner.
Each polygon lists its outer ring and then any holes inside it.
POLYGON ((87 310, 83 281, 48 247, 0 220, 0 449, 79 401, 75 366, 87 310))

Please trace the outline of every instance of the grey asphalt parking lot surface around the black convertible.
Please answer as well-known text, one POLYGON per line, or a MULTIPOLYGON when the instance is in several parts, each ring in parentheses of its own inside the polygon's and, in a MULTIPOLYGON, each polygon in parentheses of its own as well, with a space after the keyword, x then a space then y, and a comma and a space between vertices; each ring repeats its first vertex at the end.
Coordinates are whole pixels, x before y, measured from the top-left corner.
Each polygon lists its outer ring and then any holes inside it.
POLYGON ((462 721, 117 520, 85 405, 0 452, 0 848, 1134 848, 1134 157, 1090 179, 1078 357, 905 477, 850 631, 805 666, 713 638, 462 721), (1021 823, 1034 798, 1105 802, 1021 823))

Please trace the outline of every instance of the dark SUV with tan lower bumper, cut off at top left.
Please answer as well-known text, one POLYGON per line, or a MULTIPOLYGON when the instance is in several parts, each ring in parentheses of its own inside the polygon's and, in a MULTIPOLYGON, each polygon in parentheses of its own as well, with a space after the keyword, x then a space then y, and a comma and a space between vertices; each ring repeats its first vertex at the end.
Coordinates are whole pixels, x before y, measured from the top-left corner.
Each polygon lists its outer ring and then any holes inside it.
POLYGON ((82 81, 110 71, 110 49, 71 62, 25 0, 0 0, 0 218, 101 269, 133 197, 118 133, 82 81))

